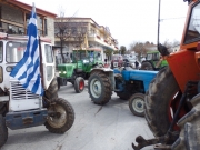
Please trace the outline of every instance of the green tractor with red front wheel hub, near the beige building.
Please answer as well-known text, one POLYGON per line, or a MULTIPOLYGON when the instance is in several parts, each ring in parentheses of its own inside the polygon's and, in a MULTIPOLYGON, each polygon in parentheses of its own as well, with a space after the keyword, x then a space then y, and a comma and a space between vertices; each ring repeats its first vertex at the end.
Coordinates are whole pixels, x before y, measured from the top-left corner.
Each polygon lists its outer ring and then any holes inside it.
POLYGON ((103 67, 103 50, 98 48, 88 48, 84 50, 72 51, 72 62, 58 64, 59 77, 58 89, 62 81, 71 82, 77 93, 84 89, 84 80, 90 76, 91 69, 103 67))

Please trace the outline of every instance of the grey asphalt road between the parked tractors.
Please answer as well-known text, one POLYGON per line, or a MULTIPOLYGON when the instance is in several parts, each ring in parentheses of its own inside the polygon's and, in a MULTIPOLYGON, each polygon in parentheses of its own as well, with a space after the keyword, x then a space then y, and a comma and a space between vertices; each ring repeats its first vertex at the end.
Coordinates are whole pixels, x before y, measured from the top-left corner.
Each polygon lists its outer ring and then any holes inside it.
POLYGON ((67 99, 76 112, 69 131, 54 134, 44 126, 9 130, 8 141, 1 150, 132 150, 131 143, 137 136, 153 137, 144 118, 133 116, 128 101, 120 100, 116 93, 101 107, 91 101, 88 88, 76 93, 69 83, 60 88, 59 97, 67 99))

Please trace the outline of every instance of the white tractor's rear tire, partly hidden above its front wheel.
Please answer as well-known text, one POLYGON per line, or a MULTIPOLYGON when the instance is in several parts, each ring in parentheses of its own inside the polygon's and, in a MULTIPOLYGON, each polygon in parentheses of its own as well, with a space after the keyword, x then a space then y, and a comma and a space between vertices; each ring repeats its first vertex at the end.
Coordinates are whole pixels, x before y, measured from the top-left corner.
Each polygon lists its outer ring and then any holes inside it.
POLYGON ((48 90, 46 90, 46 92, 44 92, 44 97, 47 99, 49 99, 49 100, 58 98, 58 82, 57 82, 57 78, 54 78, 51 81, 48 90))

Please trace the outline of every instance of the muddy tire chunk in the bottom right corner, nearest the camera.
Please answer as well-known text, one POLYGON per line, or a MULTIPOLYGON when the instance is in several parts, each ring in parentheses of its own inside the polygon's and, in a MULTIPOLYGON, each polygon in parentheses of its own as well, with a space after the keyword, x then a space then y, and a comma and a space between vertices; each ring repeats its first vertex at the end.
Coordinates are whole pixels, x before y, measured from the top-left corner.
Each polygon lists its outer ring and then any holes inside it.
POLYGON ((172 150, 200 149, 200 93, 193 97, 190 102, 193 109, 178 121, 181 132, 172 144, 172 150))

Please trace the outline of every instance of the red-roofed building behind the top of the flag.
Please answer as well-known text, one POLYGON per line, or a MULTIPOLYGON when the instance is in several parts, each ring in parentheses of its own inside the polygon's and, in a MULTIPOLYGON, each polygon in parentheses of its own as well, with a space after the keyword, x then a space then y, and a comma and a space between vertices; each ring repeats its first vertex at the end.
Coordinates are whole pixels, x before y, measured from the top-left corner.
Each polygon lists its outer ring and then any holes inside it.
MULTIPOLYGON (((10 34, 27 34, 32 6, 17 0, 0 0, 0 31, 10 34)), ((49 37, 54 43, 54 13, 36 9, 39 36, 49 37)))

